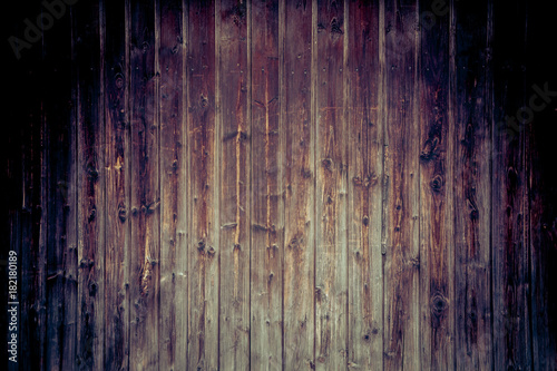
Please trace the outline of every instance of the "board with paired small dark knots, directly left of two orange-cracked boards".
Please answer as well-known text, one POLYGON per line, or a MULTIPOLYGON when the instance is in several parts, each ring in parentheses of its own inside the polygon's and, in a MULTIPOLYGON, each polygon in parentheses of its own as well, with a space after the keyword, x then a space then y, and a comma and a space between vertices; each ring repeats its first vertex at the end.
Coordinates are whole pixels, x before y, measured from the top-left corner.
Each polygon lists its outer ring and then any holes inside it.
POLYGON ((218 369, 218 128, 215 3, 193 2, 187 29, 187 368, 218 369))

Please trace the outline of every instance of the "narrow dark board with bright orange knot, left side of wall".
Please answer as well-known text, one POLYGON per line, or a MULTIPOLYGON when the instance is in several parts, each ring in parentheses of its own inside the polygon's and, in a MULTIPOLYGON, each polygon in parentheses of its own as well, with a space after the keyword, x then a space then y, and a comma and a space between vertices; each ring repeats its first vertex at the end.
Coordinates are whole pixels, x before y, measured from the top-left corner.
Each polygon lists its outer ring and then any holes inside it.
POLYGON ((105 39, 105 370, 128 369, 129 65, 124 0, 104 2, 105 39))

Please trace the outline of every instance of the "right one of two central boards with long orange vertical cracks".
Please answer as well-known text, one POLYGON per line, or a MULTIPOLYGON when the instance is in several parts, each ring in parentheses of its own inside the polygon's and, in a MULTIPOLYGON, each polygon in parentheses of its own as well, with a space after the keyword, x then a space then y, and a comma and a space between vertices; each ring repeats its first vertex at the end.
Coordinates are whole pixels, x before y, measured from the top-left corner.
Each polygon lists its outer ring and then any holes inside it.
POLYGON ((282 370, 278 1, 252 2, 251 368, 282 370))

